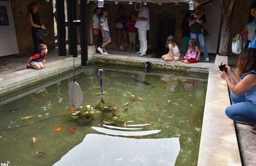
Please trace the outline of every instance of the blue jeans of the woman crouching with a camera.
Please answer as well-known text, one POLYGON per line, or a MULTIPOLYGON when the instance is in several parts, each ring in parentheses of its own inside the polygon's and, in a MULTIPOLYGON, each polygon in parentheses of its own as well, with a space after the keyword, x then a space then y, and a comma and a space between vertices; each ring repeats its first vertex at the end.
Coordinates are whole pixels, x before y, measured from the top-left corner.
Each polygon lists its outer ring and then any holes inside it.
POLYGON ((252 123, 256 126, 256 104, 246 100, 245 94, 230 94, 232 105, 225 110, 226 115, 234 121, 252 123))

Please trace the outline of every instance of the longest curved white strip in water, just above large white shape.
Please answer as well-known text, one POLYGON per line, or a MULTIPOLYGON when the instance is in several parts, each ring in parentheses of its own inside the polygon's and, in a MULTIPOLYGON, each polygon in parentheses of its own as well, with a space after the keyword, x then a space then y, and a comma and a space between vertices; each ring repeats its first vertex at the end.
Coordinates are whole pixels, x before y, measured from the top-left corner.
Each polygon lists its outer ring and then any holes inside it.
POLYGON ((118 130, 110 130, 107 128, 99 128, 99 127, 92 127, 94 130, 100 133, 106 133, 108 135, 120 135, 120 136, 143 136, 143 135, 150 135, 154 133, 159 133, 161 130, 148 130, 148 131, 141 131, 141 132, 126 132, 126 131, 118 131, 118 130))

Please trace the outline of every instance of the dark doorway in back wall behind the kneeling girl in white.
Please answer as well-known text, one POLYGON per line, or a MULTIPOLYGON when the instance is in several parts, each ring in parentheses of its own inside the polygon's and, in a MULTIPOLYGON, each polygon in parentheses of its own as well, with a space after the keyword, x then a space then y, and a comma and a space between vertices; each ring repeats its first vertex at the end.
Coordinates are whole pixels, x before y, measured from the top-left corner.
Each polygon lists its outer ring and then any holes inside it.
POLYGON ((166 39, 169 35, 175 34, 175 19, 170 17, 170 15, 161 15, 159 19, 159 26, 158 26, 158 32, 157 32, 157 53, 159 55, 166 54, 168 52, 168 49, 166 49, 166 39))

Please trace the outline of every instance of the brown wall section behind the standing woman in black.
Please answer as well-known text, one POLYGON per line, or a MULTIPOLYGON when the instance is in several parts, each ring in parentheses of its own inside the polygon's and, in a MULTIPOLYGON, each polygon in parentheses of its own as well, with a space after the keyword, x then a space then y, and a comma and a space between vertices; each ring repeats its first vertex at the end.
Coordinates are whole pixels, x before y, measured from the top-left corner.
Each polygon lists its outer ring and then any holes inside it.
MULTIPOLYGON (((27 5, 32 0, 12 0, 13 19, 15 23, 15 30, 17 35, 17 43, 20 54, 30 54, 33 52, 33 40, 31 36, 31 27, 29 26, 27 15, 27 5)), ((52 0, 49 2, 45 0, 36 1, 40 6, 40 17, 45 24, 48 36, 44 43, 49 47, 54 47, 54 26, 52 14, 52 0)))

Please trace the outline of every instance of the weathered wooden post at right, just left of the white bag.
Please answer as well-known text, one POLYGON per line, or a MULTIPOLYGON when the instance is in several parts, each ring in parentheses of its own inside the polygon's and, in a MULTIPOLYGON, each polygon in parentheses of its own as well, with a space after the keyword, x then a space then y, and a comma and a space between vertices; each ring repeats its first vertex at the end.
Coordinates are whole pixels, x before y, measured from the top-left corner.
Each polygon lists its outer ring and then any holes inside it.
POLYGON ((220 49, 219 54, 221 56, 227 56, 228 54, 228 44, 230 36, 230 27, 231 27, 231 13, 234 7, 235 0, 229 0, 227 12, 223 14, 222 27, 221 27, 221 38, 220 38, 220 49))

